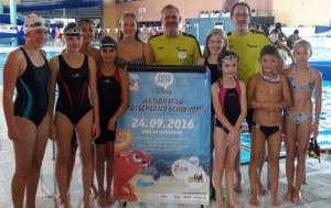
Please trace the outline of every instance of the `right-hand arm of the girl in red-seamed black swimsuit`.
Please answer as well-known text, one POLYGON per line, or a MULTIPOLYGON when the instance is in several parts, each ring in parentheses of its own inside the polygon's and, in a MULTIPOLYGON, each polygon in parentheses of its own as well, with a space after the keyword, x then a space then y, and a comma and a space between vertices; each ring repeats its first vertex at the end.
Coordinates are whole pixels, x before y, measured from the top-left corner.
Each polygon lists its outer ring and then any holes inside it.
POLYGON ((90 90, 90 100, 93 108, 93 138, 98 138, 100 134, 100 125, 99 125, 99 101, 98 101, 98 92, 96 86, 96 63, 93 57, 88 56, 88 77, 89 77, 89 90, 90 90))

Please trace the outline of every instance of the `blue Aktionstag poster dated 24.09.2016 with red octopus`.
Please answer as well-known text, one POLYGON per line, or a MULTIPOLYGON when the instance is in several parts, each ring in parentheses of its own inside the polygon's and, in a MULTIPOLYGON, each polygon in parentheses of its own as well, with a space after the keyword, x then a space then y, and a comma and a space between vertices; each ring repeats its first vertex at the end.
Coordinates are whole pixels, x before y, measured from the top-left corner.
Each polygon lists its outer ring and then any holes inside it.
POLYGON ((192 68, 129 72, 130 105, 115 143, 115 200, 209 204, 210 74, 192 68))

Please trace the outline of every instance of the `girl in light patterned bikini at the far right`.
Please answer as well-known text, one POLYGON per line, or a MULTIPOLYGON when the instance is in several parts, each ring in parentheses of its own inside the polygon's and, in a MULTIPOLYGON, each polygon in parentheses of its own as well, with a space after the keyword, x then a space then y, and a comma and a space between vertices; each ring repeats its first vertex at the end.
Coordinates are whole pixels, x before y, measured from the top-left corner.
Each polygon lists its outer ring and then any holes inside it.
POLYGON ((311 45, 300 40, 293 45, 296 64, 286 68, 285 75, 289 81, 292 107, 286 111, 285 144, 286 144, 286 175, 288 190, 284 200, 300 202, 300 188, 306 169, 306 152, 309 139, 317 139, 322 105, 322 75, 309 66, 311 45), (314 89, 314 103, 312 91, 314 89), (312 109, 314 106, 314 117, 312 109), (295 160, 297 165, 295 167, 295 160), (296 175, 296 178, 295 178, 296 175))

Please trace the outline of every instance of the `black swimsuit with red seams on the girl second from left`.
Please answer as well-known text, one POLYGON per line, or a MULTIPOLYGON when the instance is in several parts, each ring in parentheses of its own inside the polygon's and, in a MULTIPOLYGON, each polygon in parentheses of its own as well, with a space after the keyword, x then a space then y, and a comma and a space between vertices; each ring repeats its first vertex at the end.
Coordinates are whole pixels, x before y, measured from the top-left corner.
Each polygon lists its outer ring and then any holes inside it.
POLYGON ((88 97, 88 56, 84 57, 79 68, 68 66, 62 55, 58 55, 58 63, 56 111, 66 116, 73 124, 77 124, 92 109, 88 97))

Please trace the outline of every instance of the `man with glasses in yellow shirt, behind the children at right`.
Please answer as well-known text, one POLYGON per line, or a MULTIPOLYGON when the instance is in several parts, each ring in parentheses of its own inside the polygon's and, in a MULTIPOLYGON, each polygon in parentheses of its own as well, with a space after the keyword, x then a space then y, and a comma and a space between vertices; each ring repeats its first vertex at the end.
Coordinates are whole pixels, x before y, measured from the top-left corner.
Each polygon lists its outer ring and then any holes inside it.
MULTIPOLYGON (((238 2, 234 4, 231 10, 231 20, 234 23, 234 31, 227 34, 229 51, 237 53, 239 56, 238 78, 246 84, 254 74, 261 72, 259 63, 261 48, 266 45, 273 44, 271 41, 263 33, 248 30, 250 17, 252 11, 247 3, 238 2)), ((248 109, 246 120, 249 127, 249 131, 252 130, 252 116, 253 109, 248 109)), ((260 169, 263 167, 263 161, 260 169)), ((259 174, 261 172, 260 169, 259 174)), ((239 155, 237 156, 237 165, 235 167, 235 171, 237 178, 235 190, 237 193, 241 193, 242 174, 239 169, 239 155)), ((264 190, 259 182, 259 194, 265 193, 266 191, 264 190)))

